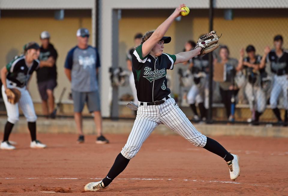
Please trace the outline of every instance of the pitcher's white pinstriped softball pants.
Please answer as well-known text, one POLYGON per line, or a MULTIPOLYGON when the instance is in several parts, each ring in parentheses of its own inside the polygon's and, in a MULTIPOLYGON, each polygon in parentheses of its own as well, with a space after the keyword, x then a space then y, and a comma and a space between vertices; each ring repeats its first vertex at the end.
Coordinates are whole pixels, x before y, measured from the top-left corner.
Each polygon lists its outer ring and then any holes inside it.
POLYGON ((122 148, 121 154, 125 158, 132 159, 159 124, 165 124, 197 147, 203 148, 206 145, 206 136, 196 130, 173 98, 156 106, 144 104, 143 106, 139 105, 132 131, 126 145, 122 148))

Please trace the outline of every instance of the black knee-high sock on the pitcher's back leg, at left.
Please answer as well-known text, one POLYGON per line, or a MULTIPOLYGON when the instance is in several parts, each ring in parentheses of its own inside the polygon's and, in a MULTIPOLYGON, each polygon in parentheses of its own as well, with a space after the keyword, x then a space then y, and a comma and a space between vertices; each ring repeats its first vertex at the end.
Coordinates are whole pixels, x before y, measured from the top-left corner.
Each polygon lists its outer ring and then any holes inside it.
POLYGON ((124 171, 129 161, 130 159, 126 159, 121 153, 119 153, 107 176, 102 180, 104 186, 108 186, 114 178, 124 171))

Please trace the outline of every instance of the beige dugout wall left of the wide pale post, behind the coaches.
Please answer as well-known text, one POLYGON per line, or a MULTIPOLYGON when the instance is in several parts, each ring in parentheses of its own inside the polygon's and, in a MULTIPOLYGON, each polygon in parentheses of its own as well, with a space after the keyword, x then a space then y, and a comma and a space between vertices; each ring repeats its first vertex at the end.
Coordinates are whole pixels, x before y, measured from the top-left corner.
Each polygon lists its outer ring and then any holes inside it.
MULTIPOLYGON (((64 61, 67 52, 76 45, 77 29, 85 27, 91 32, 91 10, 65 10, 64 20, 55 20, 53 14, 53 10, 1 11, 0 67, 2 68, 15 55, 20 54, 23 45, 27 42, 36 41, 40 44, 40 33, 49 31, 51 34, 50 41, 58 52, 56 62, 58 86, 55 89, 55 98, 57 100, 63 87, 67 87, 63 101, 68 101, 70 83, 64 75, 64 61)), ((35 73, 32 76, 29 88, 33 101, 41 101, 35 73)))

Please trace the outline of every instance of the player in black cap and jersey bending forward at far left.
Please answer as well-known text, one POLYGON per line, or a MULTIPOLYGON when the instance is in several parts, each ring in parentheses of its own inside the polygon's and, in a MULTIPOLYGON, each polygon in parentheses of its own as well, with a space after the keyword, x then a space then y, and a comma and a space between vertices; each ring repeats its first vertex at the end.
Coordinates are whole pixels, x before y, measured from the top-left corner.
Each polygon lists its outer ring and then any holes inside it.
POLYGON ((24 54, 16 56, 10 63, 1 69, 2 95, 5 103, 8 120, 4 127, 4 138, 0 148, 13 150, 15 147, 8 142, 9 135, 14 124, 19 120, 19 109, 21 108, 28 121, 28 128, 31 134, 30 148, 45 148, 36 139, 36 119, 32 98, 28 92, 29 79, 32 73, 39 68, 39 45, 36 42, 29 42, 24 45, 24 54), (8 101, 7 89, 18 89, 21 92, 19 102, 12 104, 8 101))

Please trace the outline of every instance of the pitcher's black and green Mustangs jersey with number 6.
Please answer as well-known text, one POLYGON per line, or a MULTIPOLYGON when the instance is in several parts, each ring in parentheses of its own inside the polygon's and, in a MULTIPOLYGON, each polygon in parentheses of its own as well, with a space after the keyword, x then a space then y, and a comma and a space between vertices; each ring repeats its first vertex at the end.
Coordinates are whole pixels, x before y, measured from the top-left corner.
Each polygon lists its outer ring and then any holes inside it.
POLYGON ((136 48, 132 55, 132 72, 139 101, 159 101, 170 94, 166 74, 167 69, 173 69, 175 61, 175 55, 166 53, 156 58, 150 54, 143 57, 142 44, 136 48))

